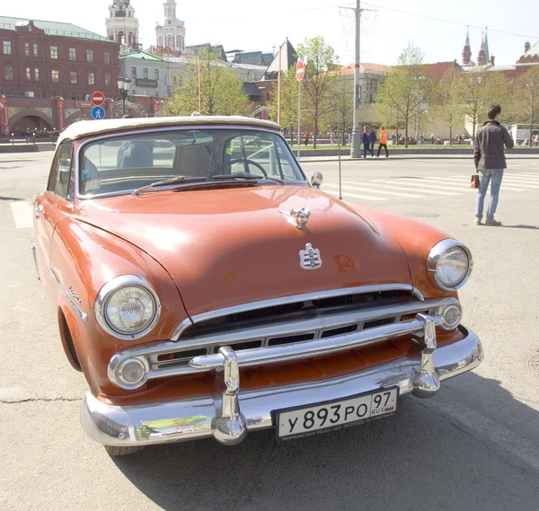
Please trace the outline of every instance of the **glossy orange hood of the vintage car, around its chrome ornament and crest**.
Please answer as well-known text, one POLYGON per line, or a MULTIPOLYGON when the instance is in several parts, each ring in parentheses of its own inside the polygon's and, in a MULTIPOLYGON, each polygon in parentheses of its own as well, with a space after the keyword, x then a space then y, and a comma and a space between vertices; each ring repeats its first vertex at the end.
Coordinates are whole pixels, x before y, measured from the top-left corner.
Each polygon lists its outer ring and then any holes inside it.
POLYGON ((308 186, 161 190, 86 201, 79 219, 131 242, 175 280, 192 316, 287 295, 410 284, 393 236, 340 200, 308 186), (308 207, 298 229, 283 212, 308 207), (311 243, 322 266, 304 269, 311 243))

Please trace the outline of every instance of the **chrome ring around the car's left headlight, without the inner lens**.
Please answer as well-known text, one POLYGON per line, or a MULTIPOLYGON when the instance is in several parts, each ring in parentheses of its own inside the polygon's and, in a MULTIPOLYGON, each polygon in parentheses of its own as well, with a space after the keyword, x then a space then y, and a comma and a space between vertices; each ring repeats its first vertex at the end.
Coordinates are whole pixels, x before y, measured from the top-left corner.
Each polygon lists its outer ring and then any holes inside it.
POLYGON ((159 321, 159 316, 161 315, 161 303, 152 286, 150 286, 144 278, 138 277, 137 275, 120 275, 119 277, 111 278, 109 282, 102 286, 95 298, 93 313, 102 329, 110 333, 110 335, 113 335, 118 339, 135 340, 144 337, 148 332, 154 329, 155 324, 159 321), (154 303, 154 316, 152 320, 146 324, 144 329, 132 333, 126 333, 115 329, 107 317, 107 305, 110 298, 119 290, 126 287, 139 287, 143 289, 151 297, 154 303))

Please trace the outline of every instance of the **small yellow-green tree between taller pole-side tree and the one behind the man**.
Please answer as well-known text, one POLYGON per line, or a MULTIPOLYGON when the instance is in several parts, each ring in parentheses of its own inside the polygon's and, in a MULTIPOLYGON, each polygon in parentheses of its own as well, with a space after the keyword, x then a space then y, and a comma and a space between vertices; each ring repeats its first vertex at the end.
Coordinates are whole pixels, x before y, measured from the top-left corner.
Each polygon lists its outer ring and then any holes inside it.
POLYGON ((453 140, 453 128, 460 124, 463 113, 456 89, 458 71, 453 68, 446 72, 438 84, 433 84, 429 94, 429 119, 440 120, 449 128, 449 143, 453 140))

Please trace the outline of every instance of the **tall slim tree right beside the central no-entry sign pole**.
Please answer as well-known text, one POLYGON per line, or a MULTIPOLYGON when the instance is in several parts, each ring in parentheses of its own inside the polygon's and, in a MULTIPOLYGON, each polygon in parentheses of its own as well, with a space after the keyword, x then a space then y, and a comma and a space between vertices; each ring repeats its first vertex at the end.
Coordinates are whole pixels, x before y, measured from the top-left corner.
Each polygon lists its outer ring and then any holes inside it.
POLYGON ((305 117, 313 124, 313 147, 316 149, 318 130, 323 128, 323 122, 331 111, 331 84, 337 77, 331 71, 336 71, 339 66, 335 63, 335 51, 322 36, 305 39, 297 47, 297 55, 306 59, 302 109, 305 106, 305 117))

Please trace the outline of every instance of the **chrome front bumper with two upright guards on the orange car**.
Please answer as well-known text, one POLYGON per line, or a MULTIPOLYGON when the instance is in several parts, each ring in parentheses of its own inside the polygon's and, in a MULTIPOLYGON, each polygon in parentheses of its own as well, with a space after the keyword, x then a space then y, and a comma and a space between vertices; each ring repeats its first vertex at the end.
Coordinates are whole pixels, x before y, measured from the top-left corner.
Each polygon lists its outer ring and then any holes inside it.
POLYGON ((346 398, 361 392, 398 386, 400 395, 434 395, 440 381, 479 366, 482 344, 460 326, 464 339, 436 347, 435 324, 424 316, 423 345, 418 358, 402 358, 357 374, 318 383, 240 392, 238 358, 221 348, 214 396, 157 404, 119 407, 84 396, 81 421, 86 433, 103 445, 152 445, 214 436, 225 445, 243 440, 247 431, 273 427, 272 411, 346 398))

